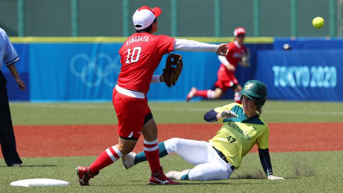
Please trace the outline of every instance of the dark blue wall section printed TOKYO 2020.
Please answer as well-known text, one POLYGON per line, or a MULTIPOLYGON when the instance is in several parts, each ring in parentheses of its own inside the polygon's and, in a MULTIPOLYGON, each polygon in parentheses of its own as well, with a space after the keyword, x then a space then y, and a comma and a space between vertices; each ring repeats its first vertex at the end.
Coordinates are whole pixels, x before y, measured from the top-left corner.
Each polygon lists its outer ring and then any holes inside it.
POLYGON ((343 101, 342 56, 343 49, 259 51, 254 78, 270 99, 343 101))

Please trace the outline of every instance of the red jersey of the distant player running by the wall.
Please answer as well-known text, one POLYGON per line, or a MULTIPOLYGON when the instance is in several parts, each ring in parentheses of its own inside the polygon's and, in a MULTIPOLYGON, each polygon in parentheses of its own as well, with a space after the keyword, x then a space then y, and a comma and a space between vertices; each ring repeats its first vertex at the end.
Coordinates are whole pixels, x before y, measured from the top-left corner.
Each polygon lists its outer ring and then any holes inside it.
POLYGON ((228 44, 228 55, 226 55, 226 59, 229 61, 230 64, 237 67, 237 63, 242 60, 242 55, 246 52, 246 48, 244 46, 240 46, 236 41, 230 42, 228 44))

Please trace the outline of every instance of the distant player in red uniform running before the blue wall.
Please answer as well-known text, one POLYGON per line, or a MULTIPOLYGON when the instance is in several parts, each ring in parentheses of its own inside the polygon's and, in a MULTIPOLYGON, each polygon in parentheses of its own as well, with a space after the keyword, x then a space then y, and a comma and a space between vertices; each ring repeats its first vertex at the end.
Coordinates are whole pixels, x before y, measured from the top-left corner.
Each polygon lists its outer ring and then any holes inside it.
POLYGON ((241 104, 240 96, 238 92, 242 91, 242 86, 239 84, 234 73, 242 60, 242 56, 246 53, 244 47, 245 29, 238 27, 233 32, 235 40, 229 43, 229 51, 226 56, 218 56, 220 64, 218 70, 218 78, 214 84, 215 90, 198 90, 193 87, 187 95, 187 101, 194 96, 202 96, 207 99, 219 99, 221 98, 228 88, 231 88, 235 92, 234 101, 241 104))

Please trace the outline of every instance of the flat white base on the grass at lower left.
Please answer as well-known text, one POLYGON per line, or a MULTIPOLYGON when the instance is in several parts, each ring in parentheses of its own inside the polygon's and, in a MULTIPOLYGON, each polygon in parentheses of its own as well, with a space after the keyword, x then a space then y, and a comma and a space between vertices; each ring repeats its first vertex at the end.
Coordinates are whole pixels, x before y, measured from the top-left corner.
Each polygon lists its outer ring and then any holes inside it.
POLYGON ((47 178, 37 178, 37 179, 23 179, 11 182, 11 186, 67 186, 69 182, 59 180, 59 179, 47 179, 47 178))

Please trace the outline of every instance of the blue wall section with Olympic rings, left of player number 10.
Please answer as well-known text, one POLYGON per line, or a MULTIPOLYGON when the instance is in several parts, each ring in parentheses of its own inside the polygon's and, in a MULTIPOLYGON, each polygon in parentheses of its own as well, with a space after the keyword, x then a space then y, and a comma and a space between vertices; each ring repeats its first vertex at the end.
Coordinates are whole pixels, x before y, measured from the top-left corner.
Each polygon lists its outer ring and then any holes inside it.
POLYGON ((32 101, 111 100, 119 44, 32 44, 32 101))

